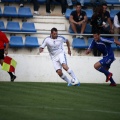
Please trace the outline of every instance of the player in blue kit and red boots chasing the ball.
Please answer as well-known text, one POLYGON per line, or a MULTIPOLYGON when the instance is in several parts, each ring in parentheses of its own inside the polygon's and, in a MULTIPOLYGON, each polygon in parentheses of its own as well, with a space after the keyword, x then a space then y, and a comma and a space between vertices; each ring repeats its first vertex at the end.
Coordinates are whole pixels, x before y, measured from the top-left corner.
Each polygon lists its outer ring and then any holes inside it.
POLYGON ((110 86, 116 86, 116 83, 112 78, 113 74, 109 72, 109 68, 115 60, 111 44, 115 43, 120 45, 120 42, 118 40, 114 40, 113 38, 102 38, 98 32, 93 34, 93 38, 94 39, 87 49, 86 54, 89 54, 93 48, 97 48, 103 54, 103 59, 95 63, 94 68, 105 74, 106 82, 111 82, 110 86))

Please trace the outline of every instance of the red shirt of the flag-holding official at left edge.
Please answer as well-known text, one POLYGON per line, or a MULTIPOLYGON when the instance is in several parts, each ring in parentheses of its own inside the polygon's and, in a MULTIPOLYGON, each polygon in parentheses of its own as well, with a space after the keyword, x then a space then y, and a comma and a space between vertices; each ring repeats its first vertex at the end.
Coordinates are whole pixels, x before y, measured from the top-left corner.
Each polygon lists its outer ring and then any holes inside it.
POLYGON ((9 40, 6 37, 5 33, 0 31, 0 49, 4 49, 5 43, 9 43, 9 40))

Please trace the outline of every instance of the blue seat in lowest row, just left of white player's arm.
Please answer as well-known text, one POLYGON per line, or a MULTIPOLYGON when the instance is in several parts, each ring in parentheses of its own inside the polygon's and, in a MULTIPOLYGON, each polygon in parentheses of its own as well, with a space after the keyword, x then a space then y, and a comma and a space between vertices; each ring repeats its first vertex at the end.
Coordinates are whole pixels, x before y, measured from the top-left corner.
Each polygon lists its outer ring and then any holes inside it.
POLYGON ((39 47, 38 38, 37 37, 31 37, 26 36, 25 38, 25 47, 34 48, 39 47))

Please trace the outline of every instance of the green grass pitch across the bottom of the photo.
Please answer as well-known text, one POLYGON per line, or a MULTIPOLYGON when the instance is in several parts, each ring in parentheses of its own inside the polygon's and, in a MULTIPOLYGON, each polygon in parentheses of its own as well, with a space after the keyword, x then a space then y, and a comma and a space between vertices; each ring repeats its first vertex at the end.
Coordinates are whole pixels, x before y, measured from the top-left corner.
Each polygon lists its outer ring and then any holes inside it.
POLYGON ((120 85, 0 82, 0 120, 119 120, 120 85))

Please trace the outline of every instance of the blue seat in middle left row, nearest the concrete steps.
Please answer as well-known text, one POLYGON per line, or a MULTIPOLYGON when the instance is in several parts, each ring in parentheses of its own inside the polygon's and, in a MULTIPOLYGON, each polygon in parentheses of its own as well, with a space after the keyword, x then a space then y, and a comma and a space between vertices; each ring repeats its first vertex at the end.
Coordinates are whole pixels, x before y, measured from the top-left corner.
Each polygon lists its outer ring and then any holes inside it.
POLYGON ((21 31, 22 32, 36 32, 34 23, 33 22, 23 22, 21 31))

